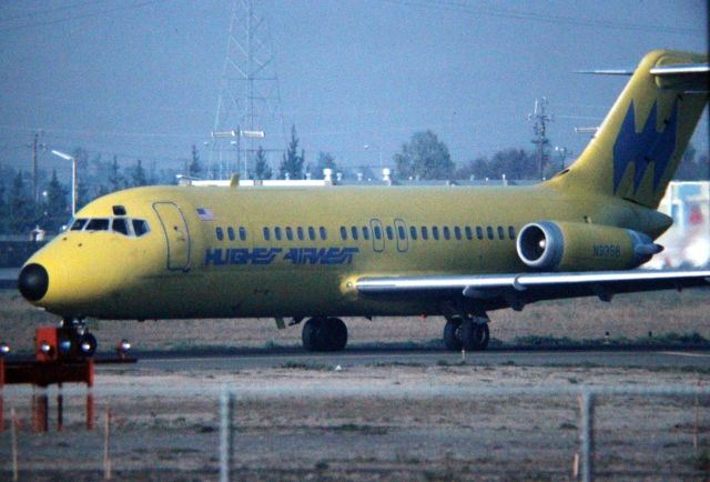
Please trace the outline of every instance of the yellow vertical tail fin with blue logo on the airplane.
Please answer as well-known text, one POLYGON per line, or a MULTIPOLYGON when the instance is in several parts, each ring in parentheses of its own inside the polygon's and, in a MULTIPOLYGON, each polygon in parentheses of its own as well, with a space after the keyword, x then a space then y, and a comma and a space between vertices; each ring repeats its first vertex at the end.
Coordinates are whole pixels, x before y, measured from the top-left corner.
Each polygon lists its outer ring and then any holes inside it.
POLYGON ((658 208, 708 103, 707 62, 693 53, 648 53, 579 159, 549 185, 658 208))

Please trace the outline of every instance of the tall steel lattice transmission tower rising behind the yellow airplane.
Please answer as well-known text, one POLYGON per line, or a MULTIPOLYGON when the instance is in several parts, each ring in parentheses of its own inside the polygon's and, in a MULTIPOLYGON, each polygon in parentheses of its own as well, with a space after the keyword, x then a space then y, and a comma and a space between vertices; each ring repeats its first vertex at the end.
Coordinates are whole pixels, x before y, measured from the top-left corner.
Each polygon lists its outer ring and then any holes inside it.
MULTIPOLYGON (((267 158, 286 143, 275 54, 256 0, 235 0, 230 20, 220 97, 210 150, 211 178, 253 177, 253 158, 267 158)), ((273 165, 273 162, 272 162, 273 165)))

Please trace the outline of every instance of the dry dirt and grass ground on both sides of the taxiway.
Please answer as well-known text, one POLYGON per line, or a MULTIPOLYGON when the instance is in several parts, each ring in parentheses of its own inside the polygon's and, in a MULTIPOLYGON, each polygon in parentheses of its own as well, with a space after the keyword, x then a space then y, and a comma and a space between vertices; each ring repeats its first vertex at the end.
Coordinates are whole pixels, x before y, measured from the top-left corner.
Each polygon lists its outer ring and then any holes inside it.
MULTIPOLYGON (((710 338, 709 294, 706 290, 619 297, 612 303, 541 303, 523 313, 491 313, 491 334, 506 342, 529 335, 600 339, 605 332, 636 340, 649 331, 653 337, 697 332, 710 338)), ((0 337, 16 351, 29 352, 34 327, 54 321, 17 294, 0 293, 0 337)), ((353 345, 438 342, 443 329, 439 318, 346 322, 353 345)), ((297 347, 301 337, 300 327, 280 331, 273 320, 101 321, 92 322, 91 330, 103 347, 126 338, 143 350, 297 347)), ((236 401, 233 480, 571 480, 572 460, 580 450, 580 411, 574 394, 462 398, 452 393, 478 386, 710 382, 710 371, 687 366, 378 364, 335 371, 286 365, 214 372, 102 368, 92 431, 85 429, 85 394, 65 395, 63 431, 58 432, 55 392, 51 392, 50 431, 34 433, 31 394, 7 389, 0 480, 11 480, 11 409, 20 421, 20 480, 103 480, 109 409, 113 480, 217 480, 219 393, 226 385, 237 394, 251 393, 236 401), (152 386, 179 393, 141 392, 152 386), (102 395, 104 388, 129 394, 102 395), (362 393, 353 394, 353 388, 362 388, 362 393), (399 389, 428 394, 398 396, 399 389)), ((709 406, 704 399, 600 396, 595 419, 597 480, 710 480, 709 406)))

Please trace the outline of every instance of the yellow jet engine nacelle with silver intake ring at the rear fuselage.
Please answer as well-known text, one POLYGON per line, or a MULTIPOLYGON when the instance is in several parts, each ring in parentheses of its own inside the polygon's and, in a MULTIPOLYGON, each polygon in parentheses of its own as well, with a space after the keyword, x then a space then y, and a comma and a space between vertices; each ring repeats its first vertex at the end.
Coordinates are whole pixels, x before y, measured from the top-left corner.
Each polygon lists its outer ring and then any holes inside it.
POLYGON ((629 229, 581 222, 539 221, 518 234, 518 255, 541 271, 598 271, 638 268, 663 250, 629 229))

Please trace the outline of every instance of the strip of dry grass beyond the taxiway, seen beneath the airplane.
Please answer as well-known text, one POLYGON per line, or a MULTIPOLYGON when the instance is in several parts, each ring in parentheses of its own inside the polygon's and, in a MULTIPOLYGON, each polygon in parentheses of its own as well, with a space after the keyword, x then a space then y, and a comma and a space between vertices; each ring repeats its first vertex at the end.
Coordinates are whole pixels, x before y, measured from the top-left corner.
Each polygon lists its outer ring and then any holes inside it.
MULTIPOLYGON (((676 332, 697 332, 710 338, 710 291, 658 292, 616 298, 611 303, 597 299, 544 302, 523 312, 501 310, 490 313, 491 335, 513 341, 520 337, 567 337, 570 339, 639 339, 676 332)), ((442 335, 439 317, 376 318, 345 320, 351 343, 427 343, 442 335)), ((57 318, 28 304, 16 291, 0 291, 0 337, 16 351, 29 351, 34 328, 54 324, 57 318)), ((301 328, 277 330, 273 320, 181 320, 181 321, 93 321, 90 325, 105 348, 125 338, 142 350, 191 347, 297 347, 301 328)))

